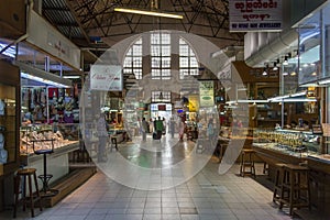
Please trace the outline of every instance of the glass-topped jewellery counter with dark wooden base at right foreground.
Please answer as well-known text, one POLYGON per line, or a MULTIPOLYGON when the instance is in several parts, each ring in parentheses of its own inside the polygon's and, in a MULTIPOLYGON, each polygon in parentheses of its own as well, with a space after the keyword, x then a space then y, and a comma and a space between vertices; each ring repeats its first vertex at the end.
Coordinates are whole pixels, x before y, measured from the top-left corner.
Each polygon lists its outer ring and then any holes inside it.
POLYGON ((275 179, 276 164, 307 166, 311 207, 329 216, 330 154, 326 138, 295 130, 257 130, 254 135, 252 147, 268 164, 271 179, 275 179))

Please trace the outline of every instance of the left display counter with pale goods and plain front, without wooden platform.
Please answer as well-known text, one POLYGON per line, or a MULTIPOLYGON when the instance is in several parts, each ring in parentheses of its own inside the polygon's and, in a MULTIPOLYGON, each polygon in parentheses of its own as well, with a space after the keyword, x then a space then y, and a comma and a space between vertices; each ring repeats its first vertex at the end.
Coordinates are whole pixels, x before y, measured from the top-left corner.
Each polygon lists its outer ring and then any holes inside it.
POLYGON ((41 124, 21 128, 21 161, 29 167, 36 168, 37 175, 42 175, 43 173, 43 156, 36 152, 51 150, 53 147, 52 154, 47 155, 47 169, 53 175, 50 184, 69 173, 68 154, 79 148, 78 135, 73 135, 72 132, 67 132, 72 130, 67 127, 73 125, 41 124), (75 136, 76 139, 74 139, 75 136))

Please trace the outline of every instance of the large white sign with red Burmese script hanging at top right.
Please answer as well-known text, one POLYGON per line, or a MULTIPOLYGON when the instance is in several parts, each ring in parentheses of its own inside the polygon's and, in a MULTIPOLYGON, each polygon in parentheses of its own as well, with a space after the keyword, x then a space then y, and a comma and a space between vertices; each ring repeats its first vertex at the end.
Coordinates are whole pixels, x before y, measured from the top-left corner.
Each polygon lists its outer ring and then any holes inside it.
POLYGON ((230 0, 230 31, 280 31, 282 11, 282 0, 230 0))

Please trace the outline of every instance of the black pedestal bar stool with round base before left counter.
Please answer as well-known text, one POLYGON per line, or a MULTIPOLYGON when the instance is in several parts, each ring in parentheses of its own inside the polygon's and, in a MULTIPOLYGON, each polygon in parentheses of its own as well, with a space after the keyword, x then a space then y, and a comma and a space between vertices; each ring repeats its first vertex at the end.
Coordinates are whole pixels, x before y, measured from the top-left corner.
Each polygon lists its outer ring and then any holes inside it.
POLYGON ((47 154, 53 154, 54 153, 54 139, 50 139, 50 140, 35 140, 32 141, 32 146, 33 146, 33 152, 36 155, 43 155, 43 163, 44 163, 44 174, 43 175, 38 175, 37 177, 43 182, 43 188, 41 190, 42 193, 42 197, 52 197, 52 196, 56 196, 58 194, 57 189, 51 189, 50 188, 50 180, 51 178, 53 178, 52 174, 47 174, 47 154), (40 142, 41 144, 41 148, 35 148, 35 143, 40 142), (51 142, 51 145, 45 144, 46 142, 51 142))

